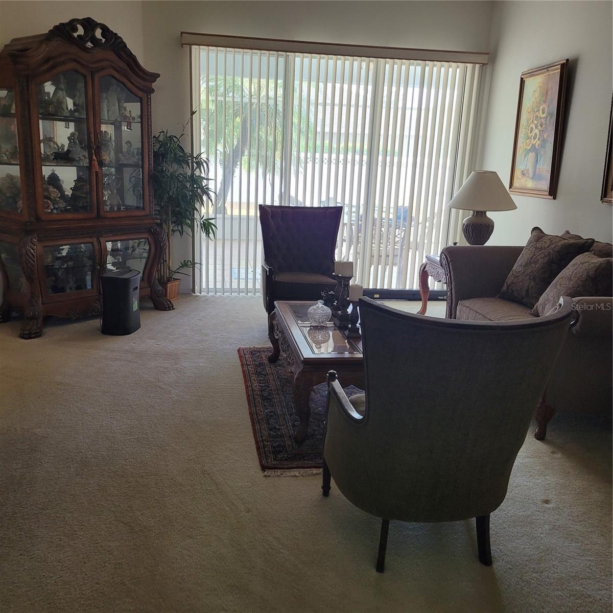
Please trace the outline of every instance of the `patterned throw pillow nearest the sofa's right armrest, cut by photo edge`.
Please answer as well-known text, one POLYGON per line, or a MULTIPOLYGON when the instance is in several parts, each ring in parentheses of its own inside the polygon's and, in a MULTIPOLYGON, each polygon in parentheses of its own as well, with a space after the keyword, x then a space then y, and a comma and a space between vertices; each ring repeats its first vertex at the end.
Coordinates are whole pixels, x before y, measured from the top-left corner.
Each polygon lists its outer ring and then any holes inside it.
POLYGON ((551 282, 530 313, 546 315, 561 296, 610 295, 613 295, 613 258, 582 253, 551 282))

